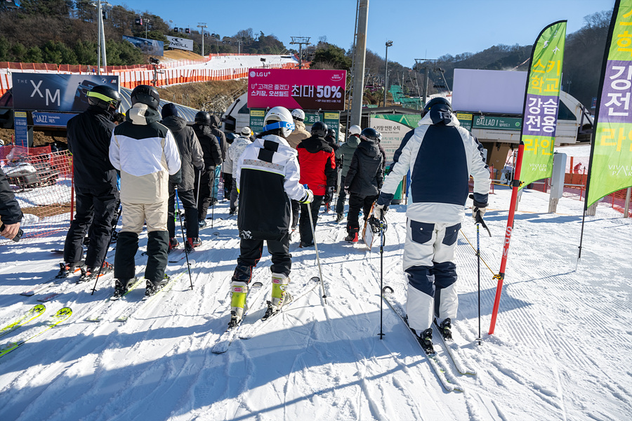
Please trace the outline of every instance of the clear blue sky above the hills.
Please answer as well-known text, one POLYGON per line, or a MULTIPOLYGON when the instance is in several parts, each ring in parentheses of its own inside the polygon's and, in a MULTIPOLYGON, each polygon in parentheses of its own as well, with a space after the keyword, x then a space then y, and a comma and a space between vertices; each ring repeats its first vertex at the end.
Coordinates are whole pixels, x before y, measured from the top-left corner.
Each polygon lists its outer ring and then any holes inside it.
MULTIPOLYGON (((286 46, 290 36, 321 36, 343 48, 353 42, 356 0, 109 0, 149 11, 173 26, 206 22, 209 32, 234 35, 251 27, 275 34, 286 46)), ((367 48, 404 66, 415 58, 476 53, 495 44, 533 44, 542 28, 568 20, 567 33, 584 16, 610 10, 614 0, 369 0, 367 48)), ((197 28, 196 28, 197 29, 197 28)))

